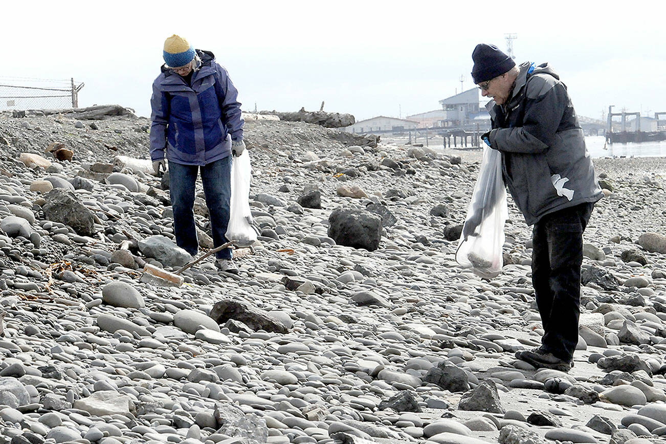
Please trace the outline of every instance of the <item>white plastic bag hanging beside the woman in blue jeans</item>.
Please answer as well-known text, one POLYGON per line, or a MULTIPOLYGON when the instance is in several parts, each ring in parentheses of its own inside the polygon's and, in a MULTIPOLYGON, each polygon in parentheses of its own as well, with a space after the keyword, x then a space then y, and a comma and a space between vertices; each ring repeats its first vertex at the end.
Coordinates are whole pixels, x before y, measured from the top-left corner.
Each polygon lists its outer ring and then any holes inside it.
POLYGON ((232 158, 230 214, 226 228, 226 238, 236 240, 238 247, 248 247, 256 242, 256 231, 252 226, 250 212, 250 179, 250 154, 248 150, 244 150, 240 156, 232 158))

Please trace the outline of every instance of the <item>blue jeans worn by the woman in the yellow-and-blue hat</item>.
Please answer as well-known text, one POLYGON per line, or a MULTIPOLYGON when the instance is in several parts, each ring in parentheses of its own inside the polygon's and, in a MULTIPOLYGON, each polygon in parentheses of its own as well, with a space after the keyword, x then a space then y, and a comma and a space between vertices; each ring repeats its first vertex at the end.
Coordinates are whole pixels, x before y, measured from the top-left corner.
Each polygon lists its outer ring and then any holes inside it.
MULTIPOLYGON (((176 245, 196 256, 198 240, 194 226, 194 188, 196 174, 201 170, 206 206, 212 228, 212 242, 218 247, 226 238, 229 224, 229 199, 231 198, 231 156, 226 156, 204 166, 185 165, 169 162, 169 182, 171 206, 173 208, 173 228, 176 245)), ((220 259, 231 259, 231 248, 224 248, 215 254, 220 259)))

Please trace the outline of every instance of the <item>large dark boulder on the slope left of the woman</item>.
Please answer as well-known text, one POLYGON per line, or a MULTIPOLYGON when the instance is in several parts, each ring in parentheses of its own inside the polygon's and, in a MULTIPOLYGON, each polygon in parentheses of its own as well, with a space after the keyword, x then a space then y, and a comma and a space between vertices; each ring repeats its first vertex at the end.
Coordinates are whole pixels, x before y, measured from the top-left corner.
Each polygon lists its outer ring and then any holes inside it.
POLYGON ((62 188, 54 188, 44 195, 44 217, 52 222, 69 225, 80 236, 95 235, 95 216, 83 206, 75 194, 62 188))

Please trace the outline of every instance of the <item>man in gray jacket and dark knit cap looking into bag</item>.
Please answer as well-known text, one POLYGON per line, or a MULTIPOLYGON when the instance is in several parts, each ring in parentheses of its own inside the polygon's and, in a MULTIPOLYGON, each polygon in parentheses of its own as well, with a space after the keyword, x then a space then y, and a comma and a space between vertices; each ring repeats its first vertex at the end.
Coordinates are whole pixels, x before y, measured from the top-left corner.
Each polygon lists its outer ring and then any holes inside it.
MULTIPOLYGON (((578 341, 583 231, 603 194, 567 89, 547 63, 513 60, 477 45, 472 78, 484 97, 511 196, 533 225, 532 285, 543 324, 541 346, 516 357, 535 367, 569 371, 578 341)), ((466 222, 473 233, 480 221, 466 222)), ((473 235, 473 234, 472 234, 473 235)))

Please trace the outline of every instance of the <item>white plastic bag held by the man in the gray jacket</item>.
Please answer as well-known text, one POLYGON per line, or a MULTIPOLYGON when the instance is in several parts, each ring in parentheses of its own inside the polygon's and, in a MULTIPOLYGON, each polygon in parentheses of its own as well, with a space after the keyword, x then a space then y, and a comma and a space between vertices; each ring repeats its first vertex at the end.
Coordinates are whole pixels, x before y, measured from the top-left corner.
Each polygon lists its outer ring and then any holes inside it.
POLYGON ((484 158, 458 242, 456 262, 472 267, 480 276, 494 277, 500 274, 507 214, 501 153, 484 146, 484 158))

